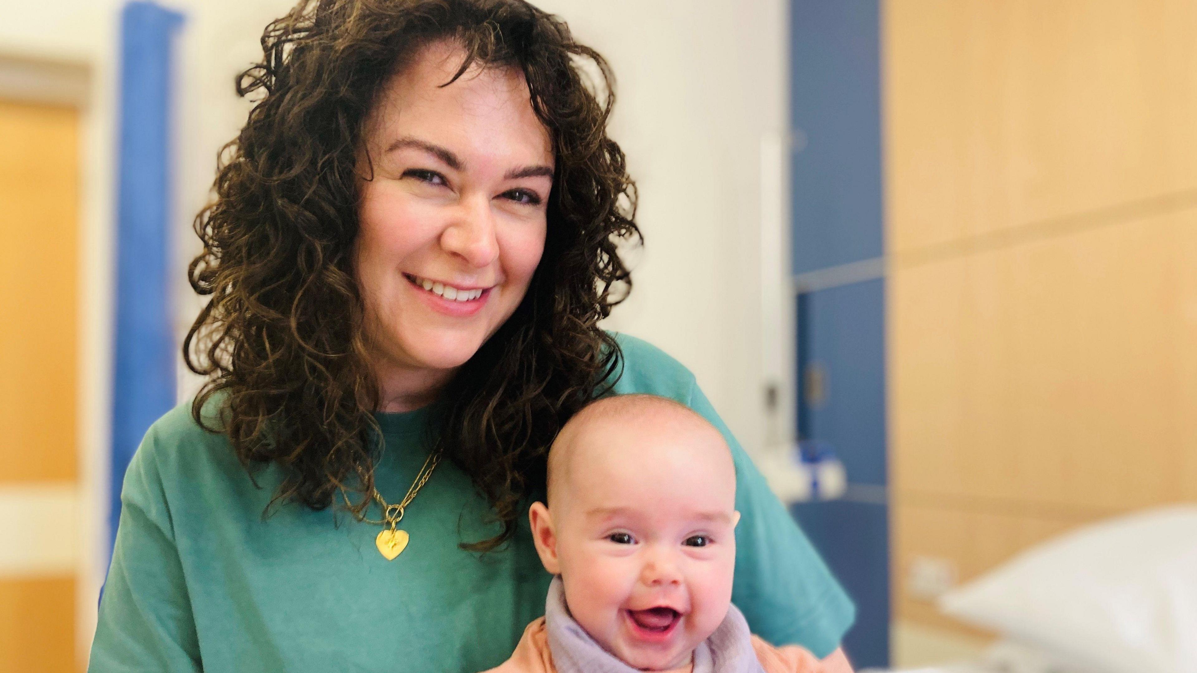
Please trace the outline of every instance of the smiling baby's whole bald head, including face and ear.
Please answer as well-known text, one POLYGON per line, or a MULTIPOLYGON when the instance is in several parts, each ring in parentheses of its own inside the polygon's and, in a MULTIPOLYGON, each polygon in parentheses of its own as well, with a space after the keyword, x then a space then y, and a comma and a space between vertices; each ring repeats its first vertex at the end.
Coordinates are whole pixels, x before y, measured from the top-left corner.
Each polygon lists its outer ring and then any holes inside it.
POLYGON ((723 436, 652 395, 595 401, 548 456, 548 505, 529 511, 573 619, 640 669, 685 666, 727 617, 736 475, 723 436))

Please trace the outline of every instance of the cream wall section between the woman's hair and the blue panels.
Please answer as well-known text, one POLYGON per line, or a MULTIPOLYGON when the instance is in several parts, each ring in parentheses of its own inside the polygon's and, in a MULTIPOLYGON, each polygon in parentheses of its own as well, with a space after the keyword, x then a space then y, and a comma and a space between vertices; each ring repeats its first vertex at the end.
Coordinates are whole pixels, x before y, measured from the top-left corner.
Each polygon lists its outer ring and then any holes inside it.
MULTIPOLYGON (((761 326, 779 310, 762 308, 760 265, 788 265, 761 259, 762 178, 776 177, 762 176, 761 145, 788 127, 788 4, 539 5, 565 18, 618 78, 612 134, 640 188, 645 250, 632 298, 609 326, 686 364, 741 443, 758 449, 766 435, 761 326)), ((766 200, 784 208, 784 193, 766 200)))

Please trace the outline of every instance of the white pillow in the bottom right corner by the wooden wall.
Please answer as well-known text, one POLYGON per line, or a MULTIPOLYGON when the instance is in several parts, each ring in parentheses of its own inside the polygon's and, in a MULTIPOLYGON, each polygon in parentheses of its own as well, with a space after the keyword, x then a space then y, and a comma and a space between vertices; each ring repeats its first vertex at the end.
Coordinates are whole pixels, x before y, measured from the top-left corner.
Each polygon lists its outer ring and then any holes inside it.
POLYGON ((964 622, 1108 673, 1197 673, 1197 504, 1035 546, 940 599, 964 622))

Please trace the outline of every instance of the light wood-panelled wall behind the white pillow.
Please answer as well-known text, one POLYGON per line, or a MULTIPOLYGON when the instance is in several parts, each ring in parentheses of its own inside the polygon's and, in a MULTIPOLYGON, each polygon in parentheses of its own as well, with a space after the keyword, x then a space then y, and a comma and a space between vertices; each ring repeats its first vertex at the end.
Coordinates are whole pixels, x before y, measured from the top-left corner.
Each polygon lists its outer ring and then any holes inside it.
POLYGON ((1197 499, 1197 2, 889 0, 899 619, 1114 513, 1197 499))

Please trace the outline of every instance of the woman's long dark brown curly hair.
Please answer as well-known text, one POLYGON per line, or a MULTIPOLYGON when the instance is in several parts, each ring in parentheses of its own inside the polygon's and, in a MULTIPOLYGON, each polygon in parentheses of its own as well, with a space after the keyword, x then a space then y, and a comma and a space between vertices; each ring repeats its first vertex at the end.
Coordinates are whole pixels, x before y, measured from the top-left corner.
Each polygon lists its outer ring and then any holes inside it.
POLYGON ((631 290, 621 242, 640 241, 636 188, 607 137, 613 77, 564 22, 522 0, 303 0, 262 35, 263 59, 237 92, 260 96, 220 152, 215 198, 195 218, 203 251, 188 269, 211 296, 183 342, 208 381, 192 414, 229 436, 253 475, 285 479, 271 505, 323 509, 344 489, 360 516, 379 456, 377 382, 352 268, 359 151, 379 92, 432 42, 472 65, 523 73, 548 129, 555 175, 545 251, 512 316, 440 390, 430 425, 502 523, 463 542, 490 551, 543 487, 561 425, 619 376, 619 346, 597 326, 631 290), (596 73, 587 77, 579 63, 596 73), (211 425, 201 410, 221 393, 211 425))

